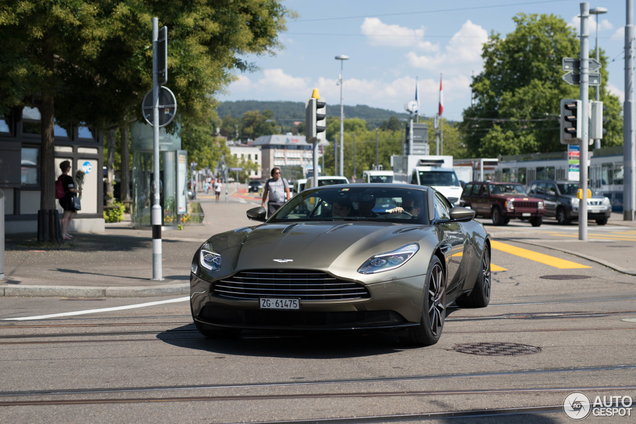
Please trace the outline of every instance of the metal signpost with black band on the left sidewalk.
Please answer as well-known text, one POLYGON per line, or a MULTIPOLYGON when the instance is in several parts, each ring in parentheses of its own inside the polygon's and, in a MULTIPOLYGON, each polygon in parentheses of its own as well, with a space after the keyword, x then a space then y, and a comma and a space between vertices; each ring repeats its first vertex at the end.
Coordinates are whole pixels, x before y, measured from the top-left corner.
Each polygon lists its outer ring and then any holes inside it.
MULTIPOLYGON (((153 208, 151 211, 151 224, 153 227, 153 279, 162 280, 162 251, 161 251, 161 224, 162 213, 159 190, 159 81, 157 74, 159 37, 159 19, 153 18, 153 177, 155 190, 153 193, 153 208)), ((193 188, 194 190, 194 188, 193 188)))

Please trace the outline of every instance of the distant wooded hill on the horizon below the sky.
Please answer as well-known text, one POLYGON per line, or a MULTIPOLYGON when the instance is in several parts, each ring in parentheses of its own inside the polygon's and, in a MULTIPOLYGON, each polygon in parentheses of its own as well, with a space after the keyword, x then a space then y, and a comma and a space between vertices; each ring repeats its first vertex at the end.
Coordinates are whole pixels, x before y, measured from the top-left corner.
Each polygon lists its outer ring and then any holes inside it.
MULTIPOLYGON (((284 102, 284 101, 255 101, 240 100, 235 102, 223 102, 219 105, 219 118, 230 115, 233 118, 242 118, 243 114, 250 110, 271 110, 274 118, 282 124, 291 124, 292 121, 305 120, 305 103, 304 102, 284 102)), ((344 106, 345 118, 361 118, 367 122, 370 128, 378 127, 382 122, 389 120, 391 117, 398 119, 408 119, 408 113, 397 113, 392 110, 370 108, 364 104, 357 106, 344 106)), ((340 117, 340 104, 328 104, 327 115, 329 117, 340 117)))

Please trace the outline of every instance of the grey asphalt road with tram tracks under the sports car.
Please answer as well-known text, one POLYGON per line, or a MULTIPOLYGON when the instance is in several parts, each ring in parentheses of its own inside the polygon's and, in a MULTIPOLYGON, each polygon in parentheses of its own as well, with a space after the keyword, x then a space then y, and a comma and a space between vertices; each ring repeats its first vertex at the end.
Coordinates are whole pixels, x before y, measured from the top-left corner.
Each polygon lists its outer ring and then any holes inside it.
POLYGON ((566 423, 572 392, 636 399, 636 277, 548 248, 576 225, 487 227, 511 233, 494 244, 490 306, 452 308, 426 348, 397 334, 209 341, 187 297, 0 298, 0 421, 566 423), (152 302, 164 303, 94 311, 152 302), (78 311, 89 312, 7 320, 78 311))

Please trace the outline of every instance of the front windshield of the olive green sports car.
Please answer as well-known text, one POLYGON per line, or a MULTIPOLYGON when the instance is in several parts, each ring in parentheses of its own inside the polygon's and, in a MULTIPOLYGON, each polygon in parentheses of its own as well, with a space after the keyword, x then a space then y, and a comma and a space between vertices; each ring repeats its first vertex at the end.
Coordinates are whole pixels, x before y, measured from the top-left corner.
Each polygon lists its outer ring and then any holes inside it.
POLYGON ((427 224, 426 191, 331 185, 292 197, 268 222, 382 221, 427 224))

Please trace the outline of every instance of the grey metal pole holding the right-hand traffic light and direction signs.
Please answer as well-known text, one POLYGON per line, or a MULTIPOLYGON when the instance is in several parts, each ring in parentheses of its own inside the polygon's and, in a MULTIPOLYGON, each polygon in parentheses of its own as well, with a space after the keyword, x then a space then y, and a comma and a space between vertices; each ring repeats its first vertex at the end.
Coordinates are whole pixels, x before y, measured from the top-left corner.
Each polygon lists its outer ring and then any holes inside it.
POLYGON ((579 240, 588 239, 588 102, 590 101, 590 39, 588 24, 590 20, 590 3, 584 1, 581 6, 581 169, 579 169, 579 188, 583 192, 579 201, 579 240))

